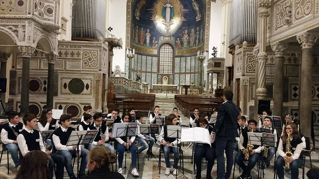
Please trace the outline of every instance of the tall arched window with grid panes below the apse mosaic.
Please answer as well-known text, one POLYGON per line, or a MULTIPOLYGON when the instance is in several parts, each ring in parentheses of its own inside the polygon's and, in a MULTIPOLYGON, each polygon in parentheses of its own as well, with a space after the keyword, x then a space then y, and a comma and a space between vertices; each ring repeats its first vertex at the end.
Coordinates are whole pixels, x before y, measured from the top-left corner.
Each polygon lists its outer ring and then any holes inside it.
POLYGON ((160 74, 173 73, 173 48, 164 44, 160 47, 160 74))

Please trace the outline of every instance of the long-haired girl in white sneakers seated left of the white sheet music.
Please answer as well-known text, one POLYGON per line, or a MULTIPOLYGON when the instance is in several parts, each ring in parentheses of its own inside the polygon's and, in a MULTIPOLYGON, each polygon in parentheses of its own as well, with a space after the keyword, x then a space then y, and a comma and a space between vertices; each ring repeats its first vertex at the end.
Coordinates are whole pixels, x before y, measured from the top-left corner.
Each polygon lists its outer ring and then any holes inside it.
POLYGON ((170 163, 169 163, 169 153, 174 154, 174 165, 173 165, 173 175, 177 175, 177 158, 178 158, 178 143, 176 138, 172 137, 167 137, 167 126, 168 125, 176 125, 177 124, 177 118, 175 114, 169 114, 168 118, 166 120, 165 125, 160 131, 159 135, 159 141, 163 145, 163 151, 164 151, 164 158, 165 158, 165 165, 166 165, 166 170, 165 170, 165 175, 169 175, 170 173, 170 163))

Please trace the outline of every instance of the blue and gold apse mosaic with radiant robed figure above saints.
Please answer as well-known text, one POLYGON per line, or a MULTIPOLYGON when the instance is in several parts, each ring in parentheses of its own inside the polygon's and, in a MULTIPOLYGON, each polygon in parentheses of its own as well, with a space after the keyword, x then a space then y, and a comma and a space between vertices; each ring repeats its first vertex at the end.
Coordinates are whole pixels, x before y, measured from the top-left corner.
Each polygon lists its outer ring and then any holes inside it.
POLYGON ((205 9, 202 0, 136 0, 131 42, 146 48, 157 48, 162 42, 170 42, 176 49, 201 46, 205 9))

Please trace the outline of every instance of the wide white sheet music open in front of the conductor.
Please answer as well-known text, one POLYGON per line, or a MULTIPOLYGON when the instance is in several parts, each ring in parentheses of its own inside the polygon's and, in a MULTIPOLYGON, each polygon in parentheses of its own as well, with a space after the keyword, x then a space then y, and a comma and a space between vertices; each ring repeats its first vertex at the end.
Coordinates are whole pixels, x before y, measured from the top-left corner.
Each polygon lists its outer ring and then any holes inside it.
POLYGON ((210 143, 210 135, 208 129, 202 127, 181 128, 181 142, 197 142, 203 144, 210 143))

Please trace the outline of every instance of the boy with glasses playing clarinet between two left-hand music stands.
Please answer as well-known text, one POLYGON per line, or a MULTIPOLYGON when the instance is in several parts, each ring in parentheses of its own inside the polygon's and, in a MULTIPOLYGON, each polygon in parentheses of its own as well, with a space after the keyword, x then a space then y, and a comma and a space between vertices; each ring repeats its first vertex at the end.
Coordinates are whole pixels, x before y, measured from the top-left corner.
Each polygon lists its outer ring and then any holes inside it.
POLYGON ((93 143, 89 145, 89 150, 95 146, 104 145, 104 147, 106 147, 112 154, 115 154, 114 147, 107 143, 109 141, 109 130, 106 124, 102 124, 102 113, 97 112, 94 114, 93 123, 90 125, 88 130, 98 130, 93 143), (99 125, 101 125, 101 129, 99 125), (103 139, 101 138, 101 131, 103 139))

